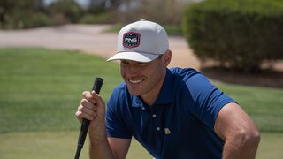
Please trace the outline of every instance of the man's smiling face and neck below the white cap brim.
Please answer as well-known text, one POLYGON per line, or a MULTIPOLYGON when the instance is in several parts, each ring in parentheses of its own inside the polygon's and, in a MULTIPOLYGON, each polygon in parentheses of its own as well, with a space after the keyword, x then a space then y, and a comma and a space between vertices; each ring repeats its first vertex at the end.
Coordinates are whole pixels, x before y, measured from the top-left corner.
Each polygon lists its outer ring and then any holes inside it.
POLYGON ((157 99, 164 82, 166 66, 170 63, 171 51, 149 63, 121 60, 120 73, 131 95, 139 95, 151 105, 157 99))

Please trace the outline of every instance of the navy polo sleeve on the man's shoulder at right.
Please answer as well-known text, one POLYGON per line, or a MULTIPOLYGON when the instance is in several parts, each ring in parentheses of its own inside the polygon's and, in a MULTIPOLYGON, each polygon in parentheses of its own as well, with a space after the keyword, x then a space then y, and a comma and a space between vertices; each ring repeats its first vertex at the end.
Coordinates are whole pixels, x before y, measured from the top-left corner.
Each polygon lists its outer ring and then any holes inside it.
POLYGON ((188 78, 186 84, 194 102, 190 111, 211 130, 214 130, 218 112, 227 103, 234 102, 234 100, 213 86, 201 73, 195 73, 188 78))

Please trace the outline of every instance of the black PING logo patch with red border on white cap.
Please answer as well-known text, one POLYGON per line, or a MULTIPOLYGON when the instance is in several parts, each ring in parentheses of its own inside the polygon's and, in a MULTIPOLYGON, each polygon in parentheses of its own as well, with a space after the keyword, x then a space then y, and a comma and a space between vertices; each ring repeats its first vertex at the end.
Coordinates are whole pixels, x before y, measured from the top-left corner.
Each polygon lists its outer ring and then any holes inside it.
POLYGON ((140 45, 141 34, 129 32, 123 36, 123 46, 126 48, 135 48, 140 45))

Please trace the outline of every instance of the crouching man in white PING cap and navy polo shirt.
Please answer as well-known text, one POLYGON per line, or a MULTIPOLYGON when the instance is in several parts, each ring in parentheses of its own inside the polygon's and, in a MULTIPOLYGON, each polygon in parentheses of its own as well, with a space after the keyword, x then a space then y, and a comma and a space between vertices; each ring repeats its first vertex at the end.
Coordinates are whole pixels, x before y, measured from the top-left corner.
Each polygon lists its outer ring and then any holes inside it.
POLYGON ((259 133, 250 117, 200 72, 168 69, 171 57, 157 23, 120 30, 108 61, 120 60, 125 82, 106 113, 100 95, 87 91, 76 112, 91 120, 90 158, 126 158, 133 136, 155 158, 255 158, 259 133))

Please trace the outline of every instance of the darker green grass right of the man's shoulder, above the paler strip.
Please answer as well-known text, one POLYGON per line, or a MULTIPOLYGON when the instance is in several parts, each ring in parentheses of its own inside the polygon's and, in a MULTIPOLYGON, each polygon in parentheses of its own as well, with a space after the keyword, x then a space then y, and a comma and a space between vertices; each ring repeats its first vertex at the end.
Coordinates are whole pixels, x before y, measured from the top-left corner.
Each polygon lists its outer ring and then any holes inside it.
POLYGON ((261 132, 283 133, 283 89, 217 84, 247 111, 261 132))

